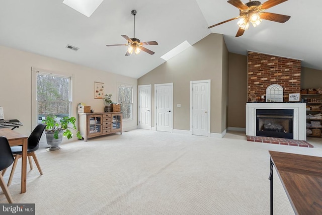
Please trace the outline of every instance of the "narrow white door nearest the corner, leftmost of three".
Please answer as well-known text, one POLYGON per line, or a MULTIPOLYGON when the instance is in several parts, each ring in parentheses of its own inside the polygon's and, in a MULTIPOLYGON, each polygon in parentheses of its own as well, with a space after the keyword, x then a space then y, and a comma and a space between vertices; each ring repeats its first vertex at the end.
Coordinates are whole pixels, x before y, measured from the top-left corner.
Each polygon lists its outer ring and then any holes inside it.
POLYGON ((151 129, 151 85, 139 86, 139 128, 151 129))

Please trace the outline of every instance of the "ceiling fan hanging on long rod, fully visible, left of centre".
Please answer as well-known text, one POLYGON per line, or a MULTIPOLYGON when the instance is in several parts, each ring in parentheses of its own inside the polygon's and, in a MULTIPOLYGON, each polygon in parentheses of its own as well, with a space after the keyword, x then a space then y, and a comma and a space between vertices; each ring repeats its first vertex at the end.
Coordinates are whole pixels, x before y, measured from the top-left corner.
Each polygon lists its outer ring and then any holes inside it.
POLYGON ((135 15, 136 15, 136 11, 133 10, 131 11, 131 14, 134 17, 134 30, 133 30, 133 38, 129 38, 126 35, 121 35, 122 37, 124 37, 127 40, 127 44, 114 44, 114 45, 106 45, 106 46, 120 46, 120 45, 126 45, 128 46, 127 52, 125 54, 125 56, 129 56, 133 53, 135 54, 139 54, 140 51, 145 51, 148 54, 154 54, 153 51, 143 47, 143 45, 157 45, 156 41, 149 41, 149 42, 141 42, 139 39, 135 38, 135 15))

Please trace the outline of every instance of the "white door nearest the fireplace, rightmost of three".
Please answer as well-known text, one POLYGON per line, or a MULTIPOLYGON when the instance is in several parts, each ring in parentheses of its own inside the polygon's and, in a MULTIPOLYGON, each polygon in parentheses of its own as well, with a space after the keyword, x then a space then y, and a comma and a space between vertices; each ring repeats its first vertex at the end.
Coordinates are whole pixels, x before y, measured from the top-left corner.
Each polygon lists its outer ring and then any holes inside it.
POLYGON ((209 81, 191 83, 192 134, 208 136, 209 133, 209 81))

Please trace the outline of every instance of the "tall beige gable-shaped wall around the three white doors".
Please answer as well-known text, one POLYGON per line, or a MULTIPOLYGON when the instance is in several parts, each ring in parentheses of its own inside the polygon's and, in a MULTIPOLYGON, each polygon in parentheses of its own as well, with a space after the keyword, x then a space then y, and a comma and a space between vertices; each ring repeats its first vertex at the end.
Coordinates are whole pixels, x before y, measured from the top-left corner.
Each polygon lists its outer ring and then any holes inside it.
MULTIPOLYGON (((210 132, 221 133, 225 129, 222 125, 226 124, 226 111, 222 110, 222 95, 227 93, 222 92, 222 85, 223 82, 227 82, 225 78, 227 75, 223 76, 223 73, 228 71, 227 53, 223 36, 209 34, 192 47, 139 78, 138 85, 152 84, 152 125, 154 125, 155 109, 154 84, 173 83, 173 128, 190 130, 190 81, 211 80, 210 132), (177 104, 181 104, 181 107, 178 108, 177 104)), ((228 84, 225 84, 224 89, 226 86, 228 84)))

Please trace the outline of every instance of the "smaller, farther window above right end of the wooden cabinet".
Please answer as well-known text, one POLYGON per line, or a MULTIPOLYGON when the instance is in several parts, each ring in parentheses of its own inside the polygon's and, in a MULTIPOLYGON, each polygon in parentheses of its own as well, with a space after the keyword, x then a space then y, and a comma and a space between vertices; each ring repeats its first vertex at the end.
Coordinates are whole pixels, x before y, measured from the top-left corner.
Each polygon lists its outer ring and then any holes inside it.
POLYGON ((133 86, 118 85, 117 102, 121 105, 123 120, 133 119, 133 86))

